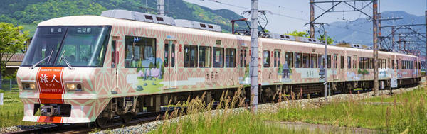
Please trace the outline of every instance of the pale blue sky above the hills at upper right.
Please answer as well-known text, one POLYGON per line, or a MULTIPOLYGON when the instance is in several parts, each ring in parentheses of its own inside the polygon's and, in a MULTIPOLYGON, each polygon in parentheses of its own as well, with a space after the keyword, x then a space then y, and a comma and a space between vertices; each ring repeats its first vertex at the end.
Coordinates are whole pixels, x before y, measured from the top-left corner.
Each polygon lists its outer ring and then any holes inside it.
MULTIPOLYGON (((243 11, 250 10, 250 0, 184 0, 193 4, 209 7, 210 9, 229 9, 238 14, 243 11)), ((315 1, 331 1, 331 0, 315 0, 315 1)), ((424 16, 427 0, 379 0, 379 12, 382 11, 406 11, 407 13, 424 16)), ((362 7, 368 4, 369 1, 357 2, 357 7, 362 7)), ((353 4, 353 3, 352 3, 353 4)), ((317 4, 322 9, 329 9, 332 4, 317 4)), ((319 16, 323 11, 315 6, 315 17, 319 16)), ((268 13, 267 30, 273 33, 286 33, 293 30, 308 30, 308 20, 310 20, 310 4, 309 0, 259 0, 259 10, 268 10, 273 14, 268 13)), ((369 15, 372 14, 371 5, 363 11, 369 15)), ((351 7, 345 4, 339 4, 336 10, 351 10, 351 7)), ((248 17, 248 16, 245 16, 248 17)), ((354 21, 357 18, 367 18, 359 12, 337 12, 326 13, 316 22, 331 23, 334 21, 354 21)), ((367 20, 368 21, 368 20, 367 20)))

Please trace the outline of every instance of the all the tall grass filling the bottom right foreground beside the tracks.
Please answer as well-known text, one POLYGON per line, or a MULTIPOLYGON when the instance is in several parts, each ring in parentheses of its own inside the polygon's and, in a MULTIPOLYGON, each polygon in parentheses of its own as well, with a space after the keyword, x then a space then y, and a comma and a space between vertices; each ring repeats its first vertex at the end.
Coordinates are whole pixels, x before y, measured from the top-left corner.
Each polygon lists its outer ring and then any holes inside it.
MULTIPOLYGON (((278 113, 251 114, 230 113, 229 108, 236 100, 225 99, 225 112, 211 116, 211 108, 204 107, 200 100, 187 101, 189 115, 179 121, 165 122, 150 133, 334 133, 303 128, 294 130, 265 121, 301 121, 305 123, 369 128, 379 130, 377 133, 426 133, 427 132, 427 90, 418 88, 394 96, 378 96, 364 100, 345 100, 332 102, 320 107, 309 105, 301 108, 297 103, 290 103, 287 108, 280 108, 278 113), (394 102, 395 105, 371 105, 367 102, 394 102), (194 106, 196 104, 196 106, 194 106), (230 105, 226 105, 230 104, 230 105), (207 111, 200 113, 201 111, 207 111), (228 111, 228 112, 227 112, 228 111)), ((203 99, 201 99, 203 100, 203 99)), ((220 102, 220 104, 222 104, 220 102)), ((172 112, 167 118, 182 115, 172 112)), ((336 133, 336 132, 335 132, 336 133)), ((345 132, 344 132, 345 133, 345 132)), ((351 132, 349 132, 351 133, 351 132)))

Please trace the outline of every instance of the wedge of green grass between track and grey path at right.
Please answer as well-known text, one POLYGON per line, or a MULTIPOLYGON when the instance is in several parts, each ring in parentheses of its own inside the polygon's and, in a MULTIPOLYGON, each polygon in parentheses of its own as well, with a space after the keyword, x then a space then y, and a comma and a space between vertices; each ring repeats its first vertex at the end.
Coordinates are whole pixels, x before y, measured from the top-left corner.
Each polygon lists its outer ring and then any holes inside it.
POLYGON ((394 133, 408 129, 410 133, 427 131, 427 91, 420 88, 391 97, 379 96, 371 99, 326 104, 320 108, 292 106, 278 113, 263 115, 266 120, 302 121, 305 123, 349 126, 388 130, 394 133), (396 105, 371 105, 369 102, 396 102, 396 105))

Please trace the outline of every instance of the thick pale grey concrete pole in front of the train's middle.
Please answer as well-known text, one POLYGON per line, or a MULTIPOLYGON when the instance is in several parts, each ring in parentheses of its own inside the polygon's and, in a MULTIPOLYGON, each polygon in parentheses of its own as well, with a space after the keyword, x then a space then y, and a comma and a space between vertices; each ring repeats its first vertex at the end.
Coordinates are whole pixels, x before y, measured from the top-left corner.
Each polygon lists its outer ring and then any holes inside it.
POLYGON ((258 0, 251 0, 251 113, 258 111, 258 0))

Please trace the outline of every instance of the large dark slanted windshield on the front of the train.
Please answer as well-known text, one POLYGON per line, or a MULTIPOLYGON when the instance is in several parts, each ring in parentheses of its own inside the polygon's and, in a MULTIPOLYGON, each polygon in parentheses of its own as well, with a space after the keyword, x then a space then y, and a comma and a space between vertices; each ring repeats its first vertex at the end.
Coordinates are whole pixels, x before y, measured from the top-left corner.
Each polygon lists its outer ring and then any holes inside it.
POLYGON ((21 66, 102 67, 110 26, 38 27, 21 66))

